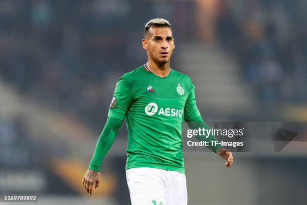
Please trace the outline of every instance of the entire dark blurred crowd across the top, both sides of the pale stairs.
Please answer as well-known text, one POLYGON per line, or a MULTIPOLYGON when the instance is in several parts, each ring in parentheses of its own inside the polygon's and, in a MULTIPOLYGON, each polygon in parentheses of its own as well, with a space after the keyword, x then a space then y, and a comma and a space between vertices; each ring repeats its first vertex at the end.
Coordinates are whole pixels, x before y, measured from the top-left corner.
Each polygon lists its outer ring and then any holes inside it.
MULTIPOLYGON (((218 43, 238 59, 242 79, 259 99, 305 102, 306 1, 218 2, 218 43)), ((146 21, 169 19, 177 40, 195 41, 195 6, 193 1, 2 0, 0 76, 25 96, 100 130, 116 80, 145 62, 140 40, 146 21)))

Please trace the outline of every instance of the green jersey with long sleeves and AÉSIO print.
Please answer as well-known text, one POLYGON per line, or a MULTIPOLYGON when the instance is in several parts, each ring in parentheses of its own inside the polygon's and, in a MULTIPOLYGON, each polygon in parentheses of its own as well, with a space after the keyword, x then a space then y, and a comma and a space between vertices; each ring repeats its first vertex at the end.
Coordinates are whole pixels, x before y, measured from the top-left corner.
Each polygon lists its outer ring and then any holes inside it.
MULTIPOLYGON (((126 169, 152 167, 184 173, 184 121, 190 128, 193 128, 193 122, 198 122, 197 127, 201 124, 208 129, 196 106, 194 88, 186 74, 174 69, 166 77, 152 73, 145 65, 125 73, 116 83, 108 121, 89 168, 100 170, 101 162, 125 119, 128 130, 126 169)), ((216 138, 209 136, 202 140, 216 138)), ((219 147, 209 148, 216 152, 219 147)))

